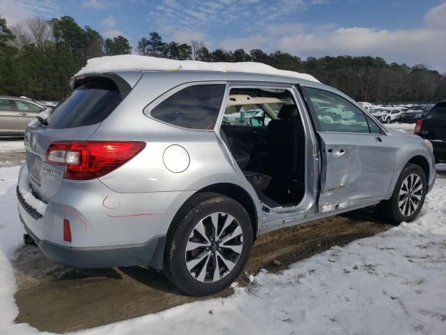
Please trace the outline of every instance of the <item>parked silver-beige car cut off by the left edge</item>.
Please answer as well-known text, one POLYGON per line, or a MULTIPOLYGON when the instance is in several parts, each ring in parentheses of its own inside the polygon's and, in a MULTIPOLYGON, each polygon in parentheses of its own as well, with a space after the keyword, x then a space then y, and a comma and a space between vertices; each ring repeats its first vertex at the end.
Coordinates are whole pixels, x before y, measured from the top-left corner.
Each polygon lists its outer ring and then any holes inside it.
POLYGON ((29 122, 43 110, 43 105, 27 98, 0 96, 0 137, 23 136, 29 122))

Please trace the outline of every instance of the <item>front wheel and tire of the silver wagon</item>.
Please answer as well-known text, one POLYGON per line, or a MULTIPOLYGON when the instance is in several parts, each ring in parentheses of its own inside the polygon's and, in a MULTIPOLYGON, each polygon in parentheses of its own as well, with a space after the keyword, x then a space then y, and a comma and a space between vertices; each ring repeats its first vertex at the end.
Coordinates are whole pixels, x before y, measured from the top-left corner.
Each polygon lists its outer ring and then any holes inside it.
POLYGON ((426 191, 424 170, 420 165, 408 163, 399 176, 392 198, 380 202, 378 209, 394 225, 413 221, 423 207, 426 191))

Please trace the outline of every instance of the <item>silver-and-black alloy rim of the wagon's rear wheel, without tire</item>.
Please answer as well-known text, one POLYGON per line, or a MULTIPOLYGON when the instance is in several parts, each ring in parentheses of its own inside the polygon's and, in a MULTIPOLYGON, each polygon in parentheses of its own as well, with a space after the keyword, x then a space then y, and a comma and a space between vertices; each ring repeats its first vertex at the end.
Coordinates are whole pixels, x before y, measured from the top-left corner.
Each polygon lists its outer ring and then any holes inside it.
POLYGON ((243 249, 240 223, 227 213, 203 218, 190 233, 185 249, 190 275, 203 283, 224 278, 236 266, 243 249))

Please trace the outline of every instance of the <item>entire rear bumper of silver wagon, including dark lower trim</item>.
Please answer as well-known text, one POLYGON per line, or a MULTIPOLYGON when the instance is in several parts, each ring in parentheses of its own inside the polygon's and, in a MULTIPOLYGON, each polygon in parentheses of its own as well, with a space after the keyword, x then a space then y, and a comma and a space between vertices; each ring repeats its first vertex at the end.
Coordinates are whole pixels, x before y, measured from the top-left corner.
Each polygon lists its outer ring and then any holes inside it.
MULTIPOLYGON (((24 178, 29 178, 26 165, 19 174, 24 178)), ((40 213, 20 191, 17 200, 25 230, 51 260, 79 268, 162 269, 165 235, 191 193, 115 193, 96 179, 62 184, 40 213), (63 239, 64 219, 70 221, 72 241, 63 239)))

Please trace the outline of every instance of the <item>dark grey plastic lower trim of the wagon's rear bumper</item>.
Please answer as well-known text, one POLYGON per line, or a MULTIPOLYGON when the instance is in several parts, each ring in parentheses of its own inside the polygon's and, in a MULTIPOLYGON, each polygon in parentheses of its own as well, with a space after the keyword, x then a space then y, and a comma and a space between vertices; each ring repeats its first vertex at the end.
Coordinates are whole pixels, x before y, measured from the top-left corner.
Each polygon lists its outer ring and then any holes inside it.
POLYGON ((26 232, 47 258, 68 267, 91 269, 148 265, 154 269, 162 269, 165 236, 154 237, 145 244, 134 246, 75 248, 39 239, 26 225, 22 216, 20 220, 26 232))

